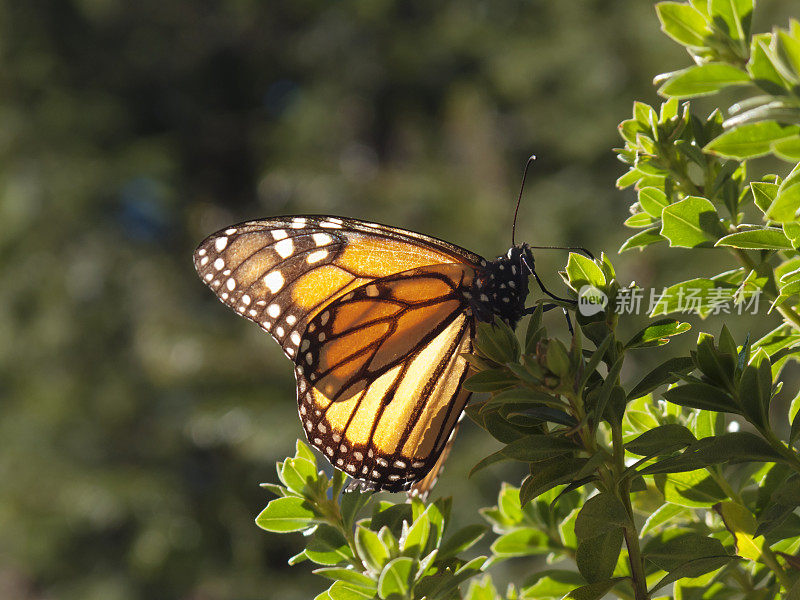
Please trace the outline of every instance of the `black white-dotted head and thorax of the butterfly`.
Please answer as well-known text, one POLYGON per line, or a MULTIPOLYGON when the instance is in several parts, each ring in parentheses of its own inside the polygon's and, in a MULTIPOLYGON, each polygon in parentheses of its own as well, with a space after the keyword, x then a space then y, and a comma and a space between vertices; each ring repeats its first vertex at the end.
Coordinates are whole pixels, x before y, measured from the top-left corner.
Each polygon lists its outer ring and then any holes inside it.
POLYGON ((481 266, 470 290, 474 314, 488 322, 498 316, 514 327, 525 314, 528 277, 533 269, 531 249, 527 244, 512 246, 481 266))

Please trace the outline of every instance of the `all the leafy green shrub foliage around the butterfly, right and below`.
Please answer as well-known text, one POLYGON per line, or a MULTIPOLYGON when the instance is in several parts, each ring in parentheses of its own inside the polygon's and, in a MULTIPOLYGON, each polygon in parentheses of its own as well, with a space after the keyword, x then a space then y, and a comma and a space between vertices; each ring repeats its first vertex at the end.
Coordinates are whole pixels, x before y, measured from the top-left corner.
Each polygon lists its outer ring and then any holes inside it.
POLYGON ((318 600, 800 598, 800 395, 788 414, 770 410, 800 354, 800 164, 749 174, 759 157, 800 160, 800 23, 753 34, 753 9, 657 5, 693 64, 655 78, 665 101, 635 102, 616 150, 627 166, 617 185, 637 195, 625 225, 638 231, 620 251, 713 248, 730 268, 665 288, 647 326, 625 339, 619 308, 642 290, 621 283, 607 255, 571 254, 562 276, 575 295, 592 286, 608 300, 575 314, 571 339, 549 336, 541 308, 519 337, 502 322, 479 328, 466 385, 485 394, 467 413, 502 448, 473 471, 529 467, 481 511, 483 524, 450 531, 449 499, 343 491, 344 476, 327 477, 298 442, 278 464, 281 483, 265 484, 277 498, 257 523, 304 533, 290 562, 315 563, 333 581, 318 600), (701 96, 722 106, 698 112, 701 96), (761 339, 723 326, 700 333, 688 356, 648 350, 690 328, 665 315, 746 319, 755 298, 780 317, 761 339), (663 362, 623 381, 628 355, 646 351, 663 362), (490 555, 470 555, 486 535, 490 555), (532 556, 547 567, 498 592, 492 565, 532 556))

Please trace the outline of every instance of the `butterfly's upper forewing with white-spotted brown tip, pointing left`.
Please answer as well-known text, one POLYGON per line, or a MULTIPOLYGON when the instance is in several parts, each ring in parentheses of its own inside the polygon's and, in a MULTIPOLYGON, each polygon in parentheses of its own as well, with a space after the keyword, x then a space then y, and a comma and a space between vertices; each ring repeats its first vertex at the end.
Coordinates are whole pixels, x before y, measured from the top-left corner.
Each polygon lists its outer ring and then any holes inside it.
POLYGON ((415 267, 483 259, 412 231, 328 216, 275 217, 234 225, 194 254, 222 302, 269 332, 289 358, 309 320, 335 298, 415 267))

